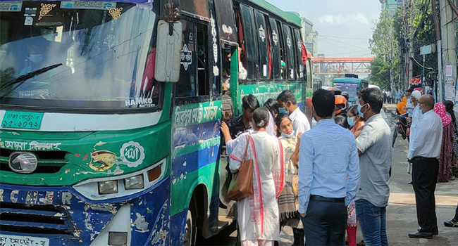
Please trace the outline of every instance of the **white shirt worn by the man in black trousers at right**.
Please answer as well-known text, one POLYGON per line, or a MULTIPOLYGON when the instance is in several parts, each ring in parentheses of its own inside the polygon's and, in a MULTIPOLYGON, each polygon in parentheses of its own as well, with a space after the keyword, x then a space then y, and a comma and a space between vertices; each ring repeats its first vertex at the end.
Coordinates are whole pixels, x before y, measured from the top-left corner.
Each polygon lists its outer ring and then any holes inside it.
POLYGON ((414 157, 439 158, 442 146, 442 120, 433 110, 423 114, 415 130, 414 141, 410 142, 407 158, 414 157))

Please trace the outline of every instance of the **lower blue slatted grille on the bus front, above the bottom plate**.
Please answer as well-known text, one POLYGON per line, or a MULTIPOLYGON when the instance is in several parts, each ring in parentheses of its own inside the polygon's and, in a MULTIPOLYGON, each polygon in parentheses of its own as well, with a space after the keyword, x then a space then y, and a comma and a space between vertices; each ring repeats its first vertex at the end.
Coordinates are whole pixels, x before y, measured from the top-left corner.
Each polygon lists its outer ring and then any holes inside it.
POLYGON ((73 236, 74 228, 70 214, 63 208, 0 202, 0 231, 73 236))

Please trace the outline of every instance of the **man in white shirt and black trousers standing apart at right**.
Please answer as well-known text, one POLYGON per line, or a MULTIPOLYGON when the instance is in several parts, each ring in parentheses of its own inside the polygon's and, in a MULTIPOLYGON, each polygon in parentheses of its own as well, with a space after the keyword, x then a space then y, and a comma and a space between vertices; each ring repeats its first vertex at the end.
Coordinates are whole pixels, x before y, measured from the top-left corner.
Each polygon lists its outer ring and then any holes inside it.
POLYGON ((433 111, 434 98, 423 95, 419 99, 423 117, 411 141, 407 160, 412 167, 412 184, 415 192, 416 217, 420 229, 409 233, 409 238, 433 238, 438 235, 438 219, 435 214, 434 190, 438 180, 442 120, 433 111))

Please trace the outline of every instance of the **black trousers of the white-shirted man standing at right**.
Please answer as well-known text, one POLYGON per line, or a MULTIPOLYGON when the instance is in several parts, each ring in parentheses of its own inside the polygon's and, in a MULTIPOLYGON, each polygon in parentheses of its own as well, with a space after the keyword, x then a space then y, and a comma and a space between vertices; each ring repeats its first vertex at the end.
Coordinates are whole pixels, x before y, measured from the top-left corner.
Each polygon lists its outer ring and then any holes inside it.
POLYGON ((412 185, 415 192, 416 218, 421 232, 432 233, 438 228, 434 198, 438 171, 439 162, 436 158, 414 158, 412 185))

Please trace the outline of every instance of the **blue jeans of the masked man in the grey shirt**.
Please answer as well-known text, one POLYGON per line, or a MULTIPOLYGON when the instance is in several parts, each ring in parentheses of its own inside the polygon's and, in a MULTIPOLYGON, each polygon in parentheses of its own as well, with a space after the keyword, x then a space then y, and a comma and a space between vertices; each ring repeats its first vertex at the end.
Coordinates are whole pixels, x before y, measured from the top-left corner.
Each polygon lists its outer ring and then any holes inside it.
POLYGON ((367 246, 388 245, 386 235, 386 207, 377 207, 361 199, 356 201, 357 218, 367 246))

